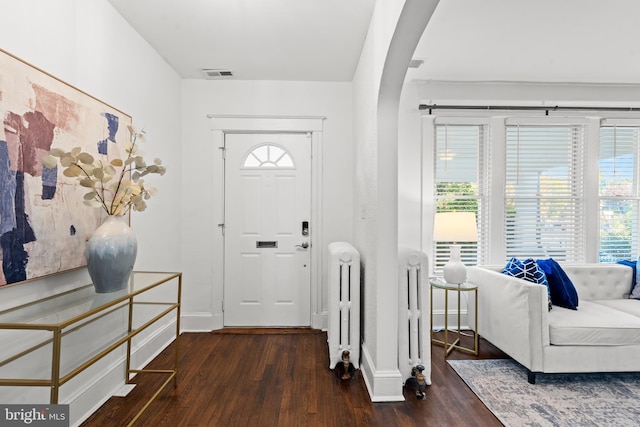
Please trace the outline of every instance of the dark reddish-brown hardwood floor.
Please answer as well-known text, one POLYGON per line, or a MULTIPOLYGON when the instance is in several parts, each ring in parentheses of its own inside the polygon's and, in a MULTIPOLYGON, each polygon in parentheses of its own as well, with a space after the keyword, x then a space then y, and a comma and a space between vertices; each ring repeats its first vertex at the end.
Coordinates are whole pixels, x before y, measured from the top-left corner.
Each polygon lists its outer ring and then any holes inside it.
MULTIPOLYGON (((173 345, 148 368, 171 366, 173 345)), ((501 426, 432 347, 426 399, 372 403, 359 371, 341 380, 328 367, 326 333, 317 330, 222 330, 180 337, 178 387, 169 386, 139 426, 501 426)), ((504 358, 480 341, 477 358, 504 358)), ((450 359, 476 358, 454 351, 450 359)), ((138 375, 126 398, 112 397, 82 425, 124 426, 162 374, 138 375)))

